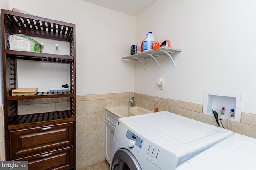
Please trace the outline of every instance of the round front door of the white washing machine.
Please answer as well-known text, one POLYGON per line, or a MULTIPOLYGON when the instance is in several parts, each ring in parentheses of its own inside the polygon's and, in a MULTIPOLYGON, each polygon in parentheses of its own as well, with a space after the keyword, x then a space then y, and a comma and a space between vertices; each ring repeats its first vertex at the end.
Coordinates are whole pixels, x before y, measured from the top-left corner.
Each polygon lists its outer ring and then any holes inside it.
POLYGON ((113 156, 111 170, 142 170, 140 164, 127 149, 118 149, 113 156))

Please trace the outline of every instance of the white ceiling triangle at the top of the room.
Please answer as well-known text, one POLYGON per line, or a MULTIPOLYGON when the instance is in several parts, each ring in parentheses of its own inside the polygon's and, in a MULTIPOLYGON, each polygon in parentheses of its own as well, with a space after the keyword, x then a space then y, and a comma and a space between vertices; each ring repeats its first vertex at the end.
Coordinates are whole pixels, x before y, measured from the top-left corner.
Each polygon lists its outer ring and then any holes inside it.
POLYGON ((83 0, 91 4, 137 16, 158 0, 83 0))

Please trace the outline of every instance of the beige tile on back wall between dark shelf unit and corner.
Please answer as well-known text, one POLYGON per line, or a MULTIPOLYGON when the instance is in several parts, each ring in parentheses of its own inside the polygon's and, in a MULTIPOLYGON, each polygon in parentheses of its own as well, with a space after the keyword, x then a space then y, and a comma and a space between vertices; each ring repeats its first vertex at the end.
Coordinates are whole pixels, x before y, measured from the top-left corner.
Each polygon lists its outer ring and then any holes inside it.
POLYGON ((130 105, 134 93, 76 96, 76 168, 105 160, 105 108, 130 105))

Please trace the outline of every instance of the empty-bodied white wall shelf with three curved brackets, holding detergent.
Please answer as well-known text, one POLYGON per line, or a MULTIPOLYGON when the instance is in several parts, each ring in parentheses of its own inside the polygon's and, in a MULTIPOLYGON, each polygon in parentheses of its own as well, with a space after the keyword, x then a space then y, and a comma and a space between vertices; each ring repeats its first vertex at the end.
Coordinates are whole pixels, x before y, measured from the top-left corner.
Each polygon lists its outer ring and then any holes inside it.
POLYGON ((134 55, 122 57, 122 59, 138 60, 144 66, 144 70, 145 70, 146 69, 146 59, 153 58, 154 61, 156 61, 156 64, 158 65, 158 69, 159 69, 160 68, 160 63, 159 63, 160 56, 167 55, 172 60, 173 67, 175 68, 176 53, 180 52, 180 51, 181 51, 180 49, 174 49, 174 48, 169 48, 169 47, 160 47, 159 49, 156 49, 156 50, 147 50, 142 53, 137 53, 134 55), (173 56, 171 54, 173 54, 173 56))

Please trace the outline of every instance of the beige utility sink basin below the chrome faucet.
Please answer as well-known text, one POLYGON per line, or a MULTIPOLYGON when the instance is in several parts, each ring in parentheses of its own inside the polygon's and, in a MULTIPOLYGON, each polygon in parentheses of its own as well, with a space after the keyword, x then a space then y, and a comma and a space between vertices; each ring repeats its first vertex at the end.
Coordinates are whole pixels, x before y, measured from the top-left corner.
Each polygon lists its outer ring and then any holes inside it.
POLYGON ((117 117, 128 117, 128 116, 135 116, 135 115, 142 115, 146 113, 153 113, 154 111, 150 111, 148 109, 144 109, 142 107, 134 106, 121 106, 121 107, 109 107, 106 108, 109 112, 113 113, 117 117))

